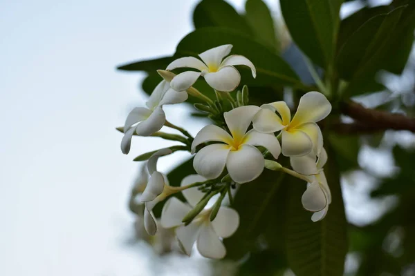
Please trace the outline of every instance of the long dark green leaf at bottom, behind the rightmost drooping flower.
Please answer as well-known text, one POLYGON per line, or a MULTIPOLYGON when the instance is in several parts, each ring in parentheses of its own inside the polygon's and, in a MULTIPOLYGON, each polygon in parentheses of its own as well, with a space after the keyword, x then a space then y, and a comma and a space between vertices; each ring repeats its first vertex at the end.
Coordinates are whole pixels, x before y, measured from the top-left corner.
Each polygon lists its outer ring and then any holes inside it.
POLYGON ((286 206, 286 249, 288 264, 297 276, 342 276, 346 257, 347 220, 344 215, 340 175, 335 167, 333 151, 328 150, 329 162, 324 167, 332 201, 322 221, 311 221, 301 197, 304 181, 290 181, 286 206))

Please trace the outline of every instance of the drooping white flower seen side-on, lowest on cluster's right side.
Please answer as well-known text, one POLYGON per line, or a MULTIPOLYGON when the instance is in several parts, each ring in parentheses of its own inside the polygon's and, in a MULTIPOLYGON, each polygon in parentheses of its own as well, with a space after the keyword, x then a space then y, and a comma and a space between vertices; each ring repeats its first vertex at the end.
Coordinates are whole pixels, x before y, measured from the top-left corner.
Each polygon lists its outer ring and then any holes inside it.
POLYGON ((295 171, 311 177, 311 183, 308 184, 302 195, 302 204, 306 210, 314 212, 311 216, 313 221, 324 219, 329 210, 329 204, 331 204, 331 192, 323 171, 326 161, 327 153, 324 148, 322 148, 317 161, 312 153, 290 158, 291 166, 295 171))

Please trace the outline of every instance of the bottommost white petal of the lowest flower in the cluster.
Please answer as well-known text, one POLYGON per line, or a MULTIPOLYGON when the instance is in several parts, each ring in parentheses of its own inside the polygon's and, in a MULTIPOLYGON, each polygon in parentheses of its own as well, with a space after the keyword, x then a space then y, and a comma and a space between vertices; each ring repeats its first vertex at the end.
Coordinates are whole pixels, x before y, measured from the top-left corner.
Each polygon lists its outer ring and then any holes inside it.
POLYGON ((212 224, 203 224, 197 237, 197 250, 203 257, 222 259, 226 255, 226 248, 214 232, 212 224))

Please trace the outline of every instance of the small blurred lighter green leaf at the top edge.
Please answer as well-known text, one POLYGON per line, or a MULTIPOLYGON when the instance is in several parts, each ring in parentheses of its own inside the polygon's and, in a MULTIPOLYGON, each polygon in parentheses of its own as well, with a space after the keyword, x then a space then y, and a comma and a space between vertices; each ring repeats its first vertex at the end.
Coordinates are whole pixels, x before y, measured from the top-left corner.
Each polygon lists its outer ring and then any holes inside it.
POLYGON ((279 52, 274 20, 266 3, 262 0, 247 0, 245 10, 246 21, 257 37, 257 41, 268 46, 273 52, 279 52))

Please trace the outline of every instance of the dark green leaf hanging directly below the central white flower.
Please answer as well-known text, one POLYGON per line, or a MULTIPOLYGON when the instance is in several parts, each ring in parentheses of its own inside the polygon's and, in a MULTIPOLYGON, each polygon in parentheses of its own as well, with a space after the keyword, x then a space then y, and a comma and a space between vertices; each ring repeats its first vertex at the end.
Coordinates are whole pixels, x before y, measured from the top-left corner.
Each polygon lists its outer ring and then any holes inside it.
MULTIPOLYGON (((264 170, 262 175, 249 184, 243 184, 234 198, 232 208, 239 213, 236 233, 224 239, 226 258, 240 259, 255 248, 257 237, 275 215, 275 202, 285 175, 282 172, 264 170)), ((278 210, 280 212, 284 210, 278 210)))

